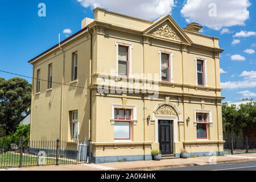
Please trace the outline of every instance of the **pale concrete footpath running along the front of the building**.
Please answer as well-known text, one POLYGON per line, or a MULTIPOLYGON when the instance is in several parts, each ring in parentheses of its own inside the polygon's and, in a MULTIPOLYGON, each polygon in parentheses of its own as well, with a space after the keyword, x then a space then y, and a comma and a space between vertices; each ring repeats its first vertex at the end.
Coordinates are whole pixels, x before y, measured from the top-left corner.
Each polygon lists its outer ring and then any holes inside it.
POLYGON ((3 169, 6 171, 150 171, 173 167, 187 167, 205 164, 235 163, 256 160, 254 154, 225 155, 216 157, 199 157, 188 159, 164 159, 160 161, 134 161, 103 164, 76 164, 65 166, 24 167, 3 169))

